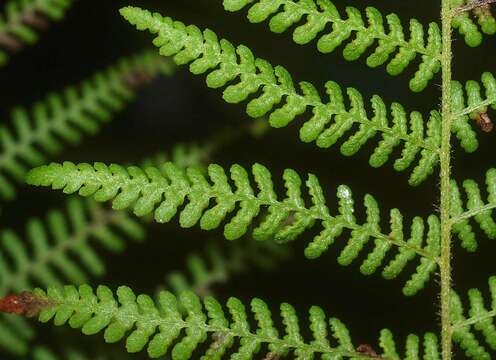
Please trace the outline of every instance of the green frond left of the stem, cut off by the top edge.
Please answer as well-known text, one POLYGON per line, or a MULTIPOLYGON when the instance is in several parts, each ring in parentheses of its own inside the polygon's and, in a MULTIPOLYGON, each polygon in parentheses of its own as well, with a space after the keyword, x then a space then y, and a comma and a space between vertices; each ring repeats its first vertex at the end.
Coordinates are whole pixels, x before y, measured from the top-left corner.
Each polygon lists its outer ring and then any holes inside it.
POLYGON ((410 80, 412 91, 424 90, 441 69, 441 31, 436 23, 429 24, 426 36, 424 26, 411 19, 410 33, 405 34, 394 13, 386 16, 386 29, 384 17, 377 8, 367 7, 364 20, 360 10, 353 6, 347 6, 346 16, 341 16, 330 0, 224 0, 224 8, 238 11, 252 3, 255 4, 248 11, 250 22, 260 23, 270 17, 269 26, 274 33, 298 25, 293 32, 294 42, 303 45, 318 38, 317 49, 324 54, 349 40, 343 57, 354 61, 376 43, 375 50, 367 57, 367 65, 375 68, 387 63, 390 75, 401 74, 421 56, 415 76, 410 80), (328 24, 332 25, 330 32, 325 30, 328 24))

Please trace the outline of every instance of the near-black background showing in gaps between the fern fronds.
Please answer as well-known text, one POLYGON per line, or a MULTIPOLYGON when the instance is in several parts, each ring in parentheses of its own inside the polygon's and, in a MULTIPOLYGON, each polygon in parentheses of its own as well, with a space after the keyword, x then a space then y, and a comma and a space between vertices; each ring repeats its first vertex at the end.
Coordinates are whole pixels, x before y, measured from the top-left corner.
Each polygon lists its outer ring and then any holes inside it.
MULTIPOLYGON (((358 0, 335 3, 339 9, 345 5, 364 8, 363 1, 358 0)), ((394 11, 403 20, 416 17, 426 24, 438 18, 438 4, 429 0, 381 0, 376 3, 383 13, 394 11)), ((77 83, 118 57, 151 46, 149 34, 137 32, 118 15, 118 9, 129 4, 159 11, 186 24, 209 27, 234 44, 248 45, 256 56, 269 59, 272 64, 284 65, 296 81, 314 83, 322 94, 324 83, 332 79, 344 87, 356 87, 366 99, 380 94, 388 104, 397 101, 407 110, 419 110, 424 115, 439 104, 439 76, 429 90, 412 93, 407 84, 415 66, 410 66, 401 76, 391 77, 384 67, 367 68, 365 56, 355 63, 346 62, 340 55, 342 48, 333 54, 320 54, 315 42, 301 47, 291 41, 291 32, 272 34, 266 23, 249 24, 246 12, 224 12, 221 0, 86 0, 77 2, 65 22, 54 25, 36 46, 17 55, 11 65, 0 72, 0 118, 8 119, 8 112, 15 105, 29 105, 48 90, 77 83)), ((403 24, 406 27, 406 21, 403 24)), ((481 47, 469 49, 456 35, 454 49, 456 79, 479 80, 483 70, 494 72, 494 38, 485 38, 481 47)), ((82 146, 70 148, 54 160, 128 163, 170 149, 177 142, 201 142, 226 126, 241 126, 249 121, 252 120, 245 114, 243 104, 224 103, 220 91, 207 89, 203 77, 191 76, 183 67, 174 78, 161 79, 142 90, 137 101, 100 135, 88 138, 82 146)), ((407 184, 409 173, 394 172, 391 162, 381 169, 367 165, 376 141, 370 142, 353 158, 345 158, 338 152, 339 144, 323 150, 314 144, 300 142, 297 137, 300 125, 301 120, 296 120, 291 126, 273 130, 262 139, 247 136, 223 149, 215 161, 245 166, 260 162, 272 170, 276 179, 286 167, 294 168, 300 174, 315 173, 326 191, 331 212, 336 206, 335 189, 339 184, 352 188, 359 210, 363 195, 371 193, 383 209, 384 228, 387 213, 393 207, 404 212, 406 223, 415 215, 426 217, 435 211, 438 185, 435 176, 418 188, 412 188, 407 184)), ((493 141, 494 134, 481 133, 480 150, 475 155, 467 155, 455 146, 454 176, 459 180, 474 178, 482 184, 486 169, 494 165, 493 141)), ((47 208, 60 205, 63 198, 56 192, 24 188, 19 200, 4 208, 0 223, 2 227, 21 231, 26 217, 43 215, 47 208)), ((357 216, 363 217, 363 212, 359 211, 357 216)), ((200 249, 206 239, 221 234, 221 230, 208 234, 198 228, 180 230, 177 218, 168 225, 153 225, 145 245, 131 245, 123 255, 108 256, 109 273, 98 282, 114 288, 127 284, 137 292, 152 292, 157 284, 164 282, 165 274, 184 267, 186 254, 200 249)), ((495 246, 486 241, 484 235, 479 235, 479 251, 475 254, 467 254, 458 244, 455 246, 454 278, 461 292, 470 287, 486 289, 487 278, 493 274, 495 246)), ((402 345, 410 332, 437 331, 437 278, 413 298, 401 294, 401 286, 418 260, 412 262, 399 280, 385 281, 380 277, 380 271, 366 277, 359 273, 363 256, 349 267, 337 264, 336 254, 344 241, 338 241, 317 260, 305 259, 302 250, 310 236, 306 234, 292 244, 296 255, 278 270, 270 273, 254 270, 217 287, 216 294, 221 299, 237 296, 245 301, 261 297, 273 309, 281 302, 290 302, 299 310, 302 328, 307 325, 308 306, 321 305, 328 315, 340 318, 349 326, 356 344, 377 344, 379 330, 384 327, 392 329, 402 345)), ((366 248, 370 250, 371 244, 366 248)), ((44 336, 47 342, 57 342, 56 335, 50 332, 44 336)), ((101 341, 101 336, 97 341, 101 341)), ((459 355, 459 358, 463 356, 459 355)))

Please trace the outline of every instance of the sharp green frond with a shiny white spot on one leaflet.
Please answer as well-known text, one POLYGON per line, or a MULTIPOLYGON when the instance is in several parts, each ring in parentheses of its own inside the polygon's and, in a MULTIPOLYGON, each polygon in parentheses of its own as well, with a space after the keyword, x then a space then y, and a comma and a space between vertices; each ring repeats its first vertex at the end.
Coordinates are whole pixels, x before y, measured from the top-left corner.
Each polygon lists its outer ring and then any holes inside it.
POLYGON ((173 163, 166 163, 161 169, 149 167, 144 170, 116 164, 52 163, 31 170, 27 182, 36 186, 51 186, 66 194, 79 192, 81 196, 94 196, 97 201, 112 200, 115 210, 132 208, 137 216, 154 212, 159 223, 168 222, 180 213, 179 223, 183 228, 199 223, 203 230, 212 230, 233 213, 234 216, 224 227, 224 236, 229 240, 243 236, 261 210, 265 209, 267 215, 253 230, 256 240, 274 238, 280 243, 292 241, 318 222, 323 230, 305 250, 305 255, 312 259, 325 252, 343 231, 349 230, 351 237, 338 262, 341 265, 351 264, 373 239, 375 247, 360 268, 364 274, 374 273, 393 245, 399 247, 399 253, 384 269, 385 278, 398 276, 409 261, 416 256, 423 257, 403 289, 407 295, 420 290, 436 269, 439 252, 439 219, 436 216, 432 215, 427 220, 427 235, 424 234, 424 220, 414 218, 408 237, 403 229, 400 211, 393 209, 390 214, 391 231, 383 233, 379 224, 379 206, 371 195, 364 197, 366 223, 359 224, 354 215, 352 193, 347 186, 337 189, 339 208, 338 214, 333 216, 315 175, 309 174, 305 183, 312 199, 311 205, 307 206, 301 194, 303 182, 294 170, 284 171, 286 197, 283 200, 278 199, 267 168, 255 164, 252 173, 258 191, 252 187, 247 171, 237 164, 230 168, 234 186, 219 165, 208 167, 209 181, 195 167, 184 171, 173 163), (213 202, 215 205, 212 206, 213 202))

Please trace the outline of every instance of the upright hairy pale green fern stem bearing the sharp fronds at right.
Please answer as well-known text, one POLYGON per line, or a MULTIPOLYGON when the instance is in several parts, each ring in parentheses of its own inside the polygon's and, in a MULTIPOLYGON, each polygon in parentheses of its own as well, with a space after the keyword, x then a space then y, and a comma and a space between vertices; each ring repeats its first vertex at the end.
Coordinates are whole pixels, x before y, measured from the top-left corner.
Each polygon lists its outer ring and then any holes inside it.
POLYGON ((441 181, 441 347, 443 360, 451 360, 452 333, 450 318, 450 292, 451 292, 451 226, 450 219, 450 163, 451 163, 451 123, 453 114, 451 110, 451 22, 453 12, 451 0, 441 2, 441 26, 443 53, 442 67, 442 130, 440 153, 440 181, 441 181))

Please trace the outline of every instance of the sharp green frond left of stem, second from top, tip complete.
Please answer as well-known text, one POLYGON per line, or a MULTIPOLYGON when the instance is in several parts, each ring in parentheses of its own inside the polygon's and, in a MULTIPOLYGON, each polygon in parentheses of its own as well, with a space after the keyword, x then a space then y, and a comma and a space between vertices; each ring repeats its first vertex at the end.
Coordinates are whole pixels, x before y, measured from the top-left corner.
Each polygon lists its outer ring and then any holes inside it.
POLYGON ((251 117, 269 115, 270 124, 280 128, 311 109, 313 116, 300 129, 300 138, 304 142, 315 141, 322 148, 331 147, 344 138, 354 124, 359 124, 358 131, 342 144, 341 153, 354 155, 367 141, 382 134, 382 140, 370 157, 373 167, 384 165, 392 151, 404 142, 402 156, 396 160, 394 167, 397 171, 404 171, 416 158, 420 158, 410 177, 412 185, 425 180, 438 163, 440 116, 436 111, 431 113, 425 130, 418 112, 407 114, 400 104, 393 103, 390 120, 388 108, 379 96, 374 96, 371 99, 374 116, 370 117, 362 95, 353 88, 347 89, 348 106, 339 85, 329 81, 326 88, 330 101, 325 103, 312 84, 301 82, 301 91, 297 91, 286 69, 281 66, 274 68, 267 61, 255 58, 245 46, 236 49, 227 40, 219 41, 210 30, 202 33, 196 26, 186 26, 139 8, 127 7, 121 13, 139 30, 158 33, 154 44, 160 48, 162 55, 175 55, 176 64, 192 62, 190 71, 193 74, 212 70, 207 76, 209 87, 225 87, 228 82, 239 78, 237 84, 229 85, 224 90, 224 100, 228 103, 242 102, 261 90, 262 94, 247 105, 247 113, 251 117), (278 104, 282 106, 274 109, 278 104))

